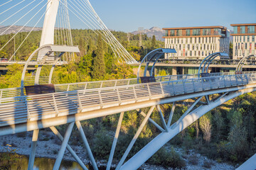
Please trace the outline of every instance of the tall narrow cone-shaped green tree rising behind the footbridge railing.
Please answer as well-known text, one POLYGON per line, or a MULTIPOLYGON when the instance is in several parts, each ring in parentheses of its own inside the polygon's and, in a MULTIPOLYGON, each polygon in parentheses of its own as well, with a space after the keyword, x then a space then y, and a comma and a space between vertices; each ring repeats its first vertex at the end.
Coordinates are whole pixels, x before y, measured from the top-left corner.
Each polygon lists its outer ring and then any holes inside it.
POLYGON ((94 79, 100 79, 106 74, 104 54, 105 52, 102 37, 99 35, 97 39, 97 50, 95 52, 95 57, 93 58, 92 64, 92 78, 94 79))

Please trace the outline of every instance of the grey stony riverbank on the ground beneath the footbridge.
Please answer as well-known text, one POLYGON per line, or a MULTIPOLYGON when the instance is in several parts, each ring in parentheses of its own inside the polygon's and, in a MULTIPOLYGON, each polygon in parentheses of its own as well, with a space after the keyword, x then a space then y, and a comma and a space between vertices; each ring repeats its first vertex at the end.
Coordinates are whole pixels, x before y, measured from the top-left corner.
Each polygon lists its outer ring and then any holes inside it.
MULTIPOLYGON (((16 149, 17 154, 29 155, 31 152, 31 138, 32 132, 19 133, 16 135, 6 135, 0 137, 0 152, 6 152, 8 148, 6 145, 12 145, 12 149, 16 149)), ((58 155, 58 150, 60 149, 61 142, 57 137, 53 134, 53 132, 45 131, 40 133, 39 140, 36 147, 36 157, 46 157, 50 159, 56 159, 58 155)), ((168 149, 169 146, 167 146, 168 149)), ((82 160, 84 164, 90 164, 90 161, 87 157, 85 149, 80 146, 72 146, 73 150, 78 157, 82 160)), ((185 153, 183 149, 176 149, 176 152, 181 154, 183 159, 186 161, 186 169, 194 170, 194 169, 212 169, 212 170, 233 170, 234 166, 225 163, 218 163, 214 160, 208 159, 207 157, 203 157, 201 154, 196 154, 193 150, 185 153)), ((64 160, 75 162, 72 155, 65 151, 64 160)), ((106 166, 107 162, 102 160, 96 161, 98 166, 106 166)), ((151 164, 144 164, 141 169, 148 170, 167 170, 161 166, 155 166, 151 164)), ((170 170, 171 168, 169 168, 170 170)))

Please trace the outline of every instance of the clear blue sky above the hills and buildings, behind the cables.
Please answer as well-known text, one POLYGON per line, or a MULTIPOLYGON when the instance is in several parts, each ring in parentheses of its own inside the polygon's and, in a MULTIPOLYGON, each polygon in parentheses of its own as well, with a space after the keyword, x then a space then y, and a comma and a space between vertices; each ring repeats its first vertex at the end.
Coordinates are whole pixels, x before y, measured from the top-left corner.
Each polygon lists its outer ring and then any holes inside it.
MULTIPOLYGON (((9 0, 0 0, 0 5, 6 1, 9 0)), ((14 0, 9 5, 13 6, 19 1, 14 0)), ((31 0, 26 1, 29 3, 31 0)), ((124 32, 153 26, 226 26, 232 29, 230 23, 256 23, 256 0, 90 0, 90 3, 107 28, 124 32)), ((0 13, 6 8, 2 6, 0 13)), ((14 8, 17 9, 18 6, 14 8)), ((7 17, 5 14, 0 16, 0 23, 7 17)), ((80 21, 75 21, 73 17, 73 28, 83 28, 80 21)), ((17 25, 22 25, 22 22, 17 25)), ((43 21, 39 25, 42 26, 43 21)))

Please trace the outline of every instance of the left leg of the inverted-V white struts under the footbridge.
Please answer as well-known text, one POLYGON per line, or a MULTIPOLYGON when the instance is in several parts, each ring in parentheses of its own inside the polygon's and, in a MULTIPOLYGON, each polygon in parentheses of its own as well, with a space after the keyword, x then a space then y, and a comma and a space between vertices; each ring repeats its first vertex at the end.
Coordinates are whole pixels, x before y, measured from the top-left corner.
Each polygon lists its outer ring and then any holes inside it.
POLYGON ((60 163, 61 163, 61 161, 63 159, 63 155, 64 155, 65 149, 66 149, 66 147, 68 145, 68 140, 70 138, 70 135, 71 135, 71 132, 73 130, 74 124, 75 124, 75 122, 70 123, 68 125, 68 129, 65 132, 64 140, 63 140, 63 142, 62 142, 62 144, 60 146, 60 151, 58 152, 58 157, 57 157, 57 159, 55 161, 55 164, 53 166, 53 170, 58 170, 60 168, 60 163))

